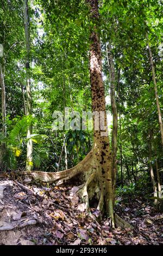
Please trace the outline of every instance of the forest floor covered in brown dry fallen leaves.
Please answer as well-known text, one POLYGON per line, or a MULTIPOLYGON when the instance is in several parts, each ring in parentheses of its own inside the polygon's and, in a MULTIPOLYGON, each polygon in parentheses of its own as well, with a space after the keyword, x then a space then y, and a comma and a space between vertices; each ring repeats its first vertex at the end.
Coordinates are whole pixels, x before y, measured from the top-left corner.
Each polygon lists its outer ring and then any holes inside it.
MULTIPOLYGON (((87 216, 76 187, 0 181, 1 245, 162 245, 163 215, 142 198, 119 197, 116 213, 133 225, 110 227, 87 216)), ((98 216, 96 209, 92 216, 98 216)))

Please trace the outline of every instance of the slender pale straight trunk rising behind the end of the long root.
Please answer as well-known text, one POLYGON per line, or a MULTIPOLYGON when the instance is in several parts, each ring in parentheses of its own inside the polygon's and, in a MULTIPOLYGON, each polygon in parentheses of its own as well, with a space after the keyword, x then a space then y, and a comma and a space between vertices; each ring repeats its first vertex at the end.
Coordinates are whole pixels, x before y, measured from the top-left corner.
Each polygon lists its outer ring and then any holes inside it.
MULTIPOLYGON (((30 41, 29 41, 29 17, 28 17, 28 0, 23 1, 24 10, 24 32, 26 38, 26 92, 27 92, 27 116, 32 114, 32 97, 31 97, 31 82, 30 82, 30 65, 29 65, 29 55, 30 55, 30 41)), ((30 139, 32 134, 32 125, 29 124, 27 129, 27 164, 26 170, 32 170, 32 152, 33 143, 30 139)))

